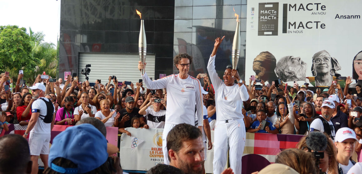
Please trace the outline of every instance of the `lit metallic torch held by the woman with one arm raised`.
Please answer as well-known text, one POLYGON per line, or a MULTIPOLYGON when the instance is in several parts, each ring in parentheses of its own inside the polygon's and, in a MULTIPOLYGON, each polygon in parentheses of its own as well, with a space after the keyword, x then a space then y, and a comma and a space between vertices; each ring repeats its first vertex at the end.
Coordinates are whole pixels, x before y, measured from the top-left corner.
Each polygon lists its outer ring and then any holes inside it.
POLYGON ((235 13, 235 16, 236 16, 236 30, 235 30, 234 40, 232 41, 231 63, 232 63, 232 68, 236 70, 237 63, 239 62, 239 57, 240 57, 240 22, 239 22, 239 15, 235 13))

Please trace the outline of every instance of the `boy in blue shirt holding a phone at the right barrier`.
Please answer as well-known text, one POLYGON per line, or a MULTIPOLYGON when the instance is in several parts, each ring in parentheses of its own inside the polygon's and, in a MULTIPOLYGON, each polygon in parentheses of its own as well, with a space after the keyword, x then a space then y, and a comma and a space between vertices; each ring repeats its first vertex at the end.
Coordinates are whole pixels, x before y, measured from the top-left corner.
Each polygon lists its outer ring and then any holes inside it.
POLYGON ((279 131, 271 124, 270 121, 266 121, 265 130, 261 129, 261 122, 266 119, 266 111, 265 110, 258 110, 256 112, 256 117, 258 121, 254 121, 253 124, 250 126, 250 129, 247 132, 257 132, 257 133, 272 133, 277 134, 279 131))

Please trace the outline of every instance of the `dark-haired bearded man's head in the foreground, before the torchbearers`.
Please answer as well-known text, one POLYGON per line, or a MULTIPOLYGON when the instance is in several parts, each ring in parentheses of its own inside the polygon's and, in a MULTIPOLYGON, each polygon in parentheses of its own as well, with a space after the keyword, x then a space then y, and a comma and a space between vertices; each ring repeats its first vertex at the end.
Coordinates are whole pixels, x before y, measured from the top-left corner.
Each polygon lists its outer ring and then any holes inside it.
MULTIPOLYGON (((186 174, 202 174, 205 147, 202 133, 195 126, 178 124, 167 135, 168 160, 170 165, 181 169, 186 174)), ((232 169, 225 169, 221 174, 233 174, 232 169)))

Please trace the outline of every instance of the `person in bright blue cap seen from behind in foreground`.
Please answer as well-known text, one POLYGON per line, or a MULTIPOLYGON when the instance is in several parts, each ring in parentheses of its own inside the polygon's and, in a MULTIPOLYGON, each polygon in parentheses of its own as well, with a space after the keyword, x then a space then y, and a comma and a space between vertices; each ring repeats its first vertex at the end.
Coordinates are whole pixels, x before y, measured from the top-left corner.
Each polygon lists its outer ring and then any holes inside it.
POLYGON ((122 173, 119 158, 108 157, 105 136, 91 124, 67 128, 53 139, 45 174, 122 173))

